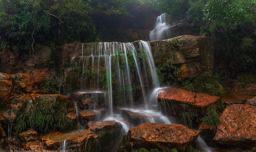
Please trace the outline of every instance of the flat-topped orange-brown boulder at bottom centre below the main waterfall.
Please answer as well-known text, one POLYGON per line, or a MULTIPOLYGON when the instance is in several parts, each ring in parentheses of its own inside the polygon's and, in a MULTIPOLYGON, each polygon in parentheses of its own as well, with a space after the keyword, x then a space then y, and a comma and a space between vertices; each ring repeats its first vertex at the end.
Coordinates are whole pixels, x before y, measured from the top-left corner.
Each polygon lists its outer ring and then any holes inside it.
POLYGON ((188 129, 183 125, 143 123, 131 128, 118 145, 118 151, 131 151, 144 147, 169 151, 176 148, 179 151, 185 149, 197 139, 198 130, 188 129))

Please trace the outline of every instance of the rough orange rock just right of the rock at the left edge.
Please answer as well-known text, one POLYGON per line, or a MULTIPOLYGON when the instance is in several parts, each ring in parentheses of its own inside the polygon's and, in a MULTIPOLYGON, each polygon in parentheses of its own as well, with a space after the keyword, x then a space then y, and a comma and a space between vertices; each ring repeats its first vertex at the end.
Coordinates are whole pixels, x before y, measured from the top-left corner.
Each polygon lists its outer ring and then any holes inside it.
POLYGON ((33 74, 17 73, 13 75, 17 92, 23 91, 25 93, 45 93, 44 90, 39 88, 39 84, 43 79, 43 77, 33 74))

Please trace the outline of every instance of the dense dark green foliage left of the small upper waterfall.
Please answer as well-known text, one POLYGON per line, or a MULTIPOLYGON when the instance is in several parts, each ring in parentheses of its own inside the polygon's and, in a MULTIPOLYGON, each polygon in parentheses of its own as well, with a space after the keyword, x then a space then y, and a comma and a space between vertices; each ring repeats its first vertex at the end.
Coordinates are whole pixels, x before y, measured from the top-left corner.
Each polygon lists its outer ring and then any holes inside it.
POLYGON ((1 0, 0 47, 32 54, 34 43, 65 43, 109 38, 115 17, 153 6, 147 0, 1 0), (102 20, 102 18, 108 20, 102 20), (113 19, 113 20, 112 20, 113 19))

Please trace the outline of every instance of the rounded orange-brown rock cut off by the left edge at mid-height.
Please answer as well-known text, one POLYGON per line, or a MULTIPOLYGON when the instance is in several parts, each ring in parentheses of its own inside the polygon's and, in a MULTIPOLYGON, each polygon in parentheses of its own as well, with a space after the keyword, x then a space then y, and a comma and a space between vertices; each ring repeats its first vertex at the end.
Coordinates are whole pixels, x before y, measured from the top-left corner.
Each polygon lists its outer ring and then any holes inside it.
POLYGON ((6 73, 0 73, 0 104, 10 103, 13 97, 13 83, 11 76, 6 73))

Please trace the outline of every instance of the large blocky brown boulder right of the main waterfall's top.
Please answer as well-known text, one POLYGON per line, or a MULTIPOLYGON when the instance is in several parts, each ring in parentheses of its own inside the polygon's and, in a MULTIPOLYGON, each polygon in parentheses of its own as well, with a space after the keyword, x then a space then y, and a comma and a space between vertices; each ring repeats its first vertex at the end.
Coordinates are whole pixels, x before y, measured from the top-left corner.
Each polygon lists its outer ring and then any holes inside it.
POLYGON ((214 68, 214 39, 206 36, 183 35, 176 37, 183 47, 177 50, 170 50, 170 41, 150 42, 153 58, 156 65, 163 65, 166 59, 172 60, 172 64, 180 66, 180 77, 190 77, 198 73, 213 72, 214 68), (181 58, 181 56, 183 56, 181 58))

